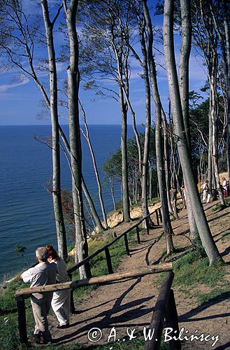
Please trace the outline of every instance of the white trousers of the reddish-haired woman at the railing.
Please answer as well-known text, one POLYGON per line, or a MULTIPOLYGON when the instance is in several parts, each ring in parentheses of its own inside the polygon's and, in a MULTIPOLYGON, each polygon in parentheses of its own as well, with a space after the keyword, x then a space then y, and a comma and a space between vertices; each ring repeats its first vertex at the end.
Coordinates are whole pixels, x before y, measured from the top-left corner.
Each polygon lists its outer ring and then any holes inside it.
POLYGON ((61 325, 69 323, 69 314, 71 312, 71 289, 54 292, 51 306, 61 325))

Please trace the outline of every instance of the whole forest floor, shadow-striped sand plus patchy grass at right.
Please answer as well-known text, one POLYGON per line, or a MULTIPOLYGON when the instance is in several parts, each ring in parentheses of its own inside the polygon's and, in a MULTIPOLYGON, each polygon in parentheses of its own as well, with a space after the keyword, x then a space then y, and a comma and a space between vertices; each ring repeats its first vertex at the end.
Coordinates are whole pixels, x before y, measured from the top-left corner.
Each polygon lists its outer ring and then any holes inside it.
MULTIPOLYGON (((204 209, 217 247, 224 262, 226 262, 224 275, 220 278, 221 282, 220 280, 216 281, 214 276, 212 283, 206 283, 206 276, 199 276, 198 269, 192 268, 191 265, 191 271, 188 267, 185 283, 176 280, 177 271, 175 271, 173 290, 180 329, 188 330, 188 335, 192 335, 195 330, 198 330, 197 334, 199 335, 202 333, 204 335, 210 334, 213 337, 219 335, 220 339, 215 346, 212 346, 215 338, 207 342, 184 340, 182 349, 230 349, 230 207, 213 211, 216 204, 217 202, 204 204, 204 209), (189 274, 193 278, 191 283, 189 283, 189 274), (194 277, 196 277, 194 275, 196 274, 197 279, 195 278, 196 283, 194 283, 194 277)), ((141 244, 131 246, 131 256, 122 258, 117 272, 127 272, 163 262, 163 260, 164 262, 175 261, 182 255, 185 257, 190 246, 187 211, 182 209, 179 216, 178 220, 172 222, 175 233, 173 242, 177 253, 166 260, 164 259, 163 228, 154 228, 150 230, 150 235, 141 233, 141 244)), ((124 230, 122 225, 118 228, 124 230)), ((206 274, 209 274, 208 266, 205 269, 206 274)), ((209 276, 209 278, 212 277, 209 276)), ((54 340, 52 346, 62 344, 63 349, 64 346, 67 349, 69 345, 73 344, 94 347, 106 344, 108 339, 116 339, 117 342, 120 339, 119 349, 134 349, 131 342, 127 340, 129 339, 127 328, 138 330, 139 337, 143 338, 143 328, 150 324, 161 280, 159 274, 153 274, 99 286, 96 290, 92 290, 90 294, 83 297, 80 304, 76 304, 76 314, 71 316, 70 328, 57 330, 55 327, 57 320, 55 316, 50 316, 50 330, 54 340), (114 329, 111 332, 113 327, 116 331, 116 337, 114 329), (91 337, 96 335, 96 333, 92 334, 92 328, 101 330, 101 339, 98 342, 92 342, 88 337, 88 332, 91 337)), ((113 349, 114 344, 109 344, 109 346, 108 349, 113 349)), ((143 346, 135 349, 143 349, 143 346)))

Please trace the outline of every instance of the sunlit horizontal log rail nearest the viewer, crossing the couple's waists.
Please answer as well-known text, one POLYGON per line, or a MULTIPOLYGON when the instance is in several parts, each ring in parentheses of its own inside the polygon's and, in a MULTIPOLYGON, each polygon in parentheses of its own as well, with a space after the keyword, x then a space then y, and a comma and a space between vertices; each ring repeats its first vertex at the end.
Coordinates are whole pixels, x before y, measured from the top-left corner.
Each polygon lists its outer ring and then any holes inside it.
POLYGON ((159 272, 167 272, 173 270, 172 262, 166 262, 160 265, 152 265, 143 267, 142 269, 136 269, 129 272, 117 272, 115 274, 105 274, 103 276, 92 277, 90 279, 79 279, 76 281, 69 281, 65 283, 55 283, 47 286, 31 287, 18 289, 15 292, 15 297, 29 297, 33 293, 45 293, 45 292, 56 292, 57 290, 73 289, 92 284, 108 283, 113 281, 120 281, 121 279, 134 278, 136 276, 144 276, 145 274, 157 274, 159 272))

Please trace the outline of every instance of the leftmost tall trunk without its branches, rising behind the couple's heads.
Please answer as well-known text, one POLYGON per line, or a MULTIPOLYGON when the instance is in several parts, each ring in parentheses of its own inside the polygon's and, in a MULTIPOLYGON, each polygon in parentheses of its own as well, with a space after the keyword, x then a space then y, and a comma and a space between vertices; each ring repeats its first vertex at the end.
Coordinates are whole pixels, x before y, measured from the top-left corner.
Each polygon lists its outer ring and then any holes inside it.
POLYGON ((59 149, 59 123, 57 110, 57 69, 55 58, 55 46, 53 41, 53 24, 50 22, 50 15, 47 0, 41 0, 43 9, 43 20, 45 24, 45 36, 48 48, 49 77, 50 77, 50 117, 52 125, 52 200, 55 213, 57 230, 57 246, 59 256, 67 258, 66 230, 62 212, 61 196, 61 165, 59 149))

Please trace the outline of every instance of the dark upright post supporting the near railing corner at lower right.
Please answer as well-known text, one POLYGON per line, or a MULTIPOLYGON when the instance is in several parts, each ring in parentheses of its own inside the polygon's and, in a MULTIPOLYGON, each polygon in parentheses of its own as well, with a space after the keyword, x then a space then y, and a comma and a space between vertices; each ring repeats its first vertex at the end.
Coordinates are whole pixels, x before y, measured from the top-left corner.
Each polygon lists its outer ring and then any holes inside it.
MULTIPOLYGON (((167 327, 173 328, 173 335, 178 337, 179 335, 179 325, 178 325, 178 311, 175 306, 175 298, 173 290, 170 290, 168 298, 168 307, 166 309, 166 325, 167 327), (176 332, 175 332, 176 331, 176 332)), ((180 339, 172 339, 169 342, 170 350, 181 350, 180 339)))

